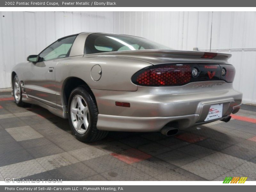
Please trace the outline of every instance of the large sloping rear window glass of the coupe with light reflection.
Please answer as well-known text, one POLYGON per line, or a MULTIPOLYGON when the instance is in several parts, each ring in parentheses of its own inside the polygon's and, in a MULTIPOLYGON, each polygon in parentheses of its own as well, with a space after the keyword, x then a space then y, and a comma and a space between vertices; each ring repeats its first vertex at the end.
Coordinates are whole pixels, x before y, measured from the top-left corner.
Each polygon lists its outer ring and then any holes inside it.
POLYGON ((85 43, 86 54, 143 49, 171 48, 141 37, 101 33, 89 35, 85 43))

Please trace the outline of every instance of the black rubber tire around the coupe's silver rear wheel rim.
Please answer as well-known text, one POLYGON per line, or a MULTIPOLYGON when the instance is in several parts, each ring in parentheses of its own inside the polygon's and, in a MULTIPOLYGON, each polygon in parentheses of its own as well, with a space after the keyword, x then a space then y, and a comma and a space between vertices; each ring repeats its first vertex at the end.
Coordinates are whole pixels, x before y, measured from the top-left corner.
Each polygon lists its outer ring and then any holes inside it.
POLYGON ((68 120, 69 120, 70 127, 72 129, 72 132, 76 135, 77 140, 84 141, 84 142, 92 142, 96 140, 101 140, 108 135, 107 131, 98 130, 96 127, 97 121, 98 121, 98 114, 99 112, 98 112, 97 103, 90 88, 86 85, 80 85, 79 87, 76 87, 71 92, 70 97, 68 99, 68 120), (73 98, 76 96, 81 96, 84 99, 84 101, 86 101, 86 105, 88 107, 89 124, 86 132, 83 134, 77 132, 76 128, 72 123, 71 102, 73 98))

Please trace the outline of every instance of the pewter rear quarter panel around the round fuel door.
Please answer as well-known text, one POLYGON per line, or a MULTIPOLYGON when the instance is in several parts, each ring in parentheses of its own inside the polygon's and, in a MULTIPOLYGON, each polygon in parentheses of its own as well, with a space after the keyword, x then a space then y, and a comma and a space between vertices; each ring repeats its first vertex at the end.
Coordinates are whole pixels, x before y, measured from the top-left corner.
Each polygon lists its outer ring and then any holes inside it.
POLYGON ((141 68, 152 64, 128 58, 77 56, 58 62, 55 70, 57 92, 61 94, 62 85, 69 77, 78 77, 84 80, 91 89, 113 91, 137 91, 137 85, 133 84, 131 77, 141 68), (94 65, 100 65, 100 80, 94 81, 91 77, 91 69, 94 65))

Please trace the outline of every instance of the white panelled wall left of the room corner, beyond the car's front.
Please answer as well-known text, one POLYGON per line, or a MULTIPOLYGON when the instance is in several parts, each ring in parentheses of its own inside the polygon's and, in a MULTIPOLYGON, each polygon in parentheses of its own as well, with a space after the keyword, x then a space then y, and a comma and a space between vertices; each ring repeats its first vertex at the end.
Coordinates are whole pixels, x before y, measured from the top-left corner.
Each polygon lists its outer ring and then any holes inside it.
POLYGON ((113 33, 113 12, 0 12, 0 88, 12 67, 58 38, 83 31, 113 33))

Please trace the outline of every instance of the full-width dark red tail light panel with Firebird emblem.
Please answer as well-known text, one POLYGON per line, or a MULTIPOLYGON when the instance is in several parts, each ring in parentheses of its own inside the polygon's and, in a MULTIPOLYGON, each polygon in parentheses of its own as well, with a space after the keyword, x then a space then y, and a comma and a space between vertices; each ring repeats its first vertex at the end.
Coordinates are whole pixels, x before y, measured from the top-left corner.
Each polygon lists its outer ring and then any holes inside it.
POLYGON ((174 63, 141 69, 132 76, 132 83, 140 86, 179 86, 214 80, 230 83, 234 77, 235 68, 229 64, 174 63))

